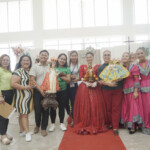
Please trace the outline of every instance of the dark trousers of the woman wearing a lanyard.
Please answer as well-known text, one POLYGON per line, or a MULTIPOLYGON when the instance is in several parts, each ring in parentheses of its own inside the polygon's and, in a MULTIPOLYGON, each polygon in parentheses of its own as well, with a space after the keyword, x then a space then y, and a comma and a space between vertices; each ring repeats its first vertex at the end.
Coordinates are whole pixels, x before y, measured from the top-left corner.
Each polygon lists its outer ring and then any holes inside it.
POLYGON ((66 111, 67 114, 71 114, 71 116, 73 117, 73 107, 74 107, 74 101, 75 101, 75 96, 76 96, 76 92, 77 92, 77 88, 78 88, 78 84, 75 83, 74 87, 70 87, 70 84, 67 85, 67 93, 68 93, 68 97, 67 97, 67 102, 66 102, 66 111), (71 108, 69 106, 69 101, 71 102, 71 108))

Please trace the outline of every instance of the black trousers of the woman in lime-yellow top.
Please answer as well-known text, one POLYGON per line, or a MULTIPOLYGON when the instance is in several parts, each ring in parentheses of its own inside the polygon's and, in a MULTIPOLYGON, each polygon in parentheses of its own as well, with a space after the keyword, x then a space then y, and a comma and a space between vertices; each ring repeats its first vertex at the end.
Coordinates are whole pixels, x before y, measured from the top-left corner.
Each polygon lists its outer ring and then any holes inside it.
MULTIPOLYGON (((11 105, 12 100, 13 100, 13 90, 1 91, 1 92, 5 99, 5 102, 11 105)), ((5 119, 2 116, 0 116, 0 134, 1 135, 5 135, 7 133, 8 123, 9 123, 8 119, 5 119)))

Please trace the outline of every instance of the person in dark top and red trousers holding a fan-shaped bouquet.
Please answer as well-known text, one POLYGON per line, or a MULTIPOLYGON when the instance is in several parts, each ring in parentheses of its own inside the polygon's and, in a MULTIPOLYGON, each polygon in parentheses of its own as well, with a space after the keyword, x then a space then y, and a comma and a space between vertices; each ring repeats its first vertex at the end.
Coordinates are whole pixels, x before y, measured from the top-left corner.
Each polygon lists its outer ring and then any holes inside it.
MULTIPOLYGON (((111 60, 111 52, 109 50, 105 50, 103 52, 104 64, 98 69, 98 74, 100 75, 103 70, 109 65, 111 60)), ((118 135, 118 128, 120 122, 121 115, 121 103, 122 103, 122 81, 104 81, 102 78, 99 78, 99 82, 102 87, 104 99, 106 102, 106 110, 108 116, 108 128, 113 128, 114 135, 118 135)))

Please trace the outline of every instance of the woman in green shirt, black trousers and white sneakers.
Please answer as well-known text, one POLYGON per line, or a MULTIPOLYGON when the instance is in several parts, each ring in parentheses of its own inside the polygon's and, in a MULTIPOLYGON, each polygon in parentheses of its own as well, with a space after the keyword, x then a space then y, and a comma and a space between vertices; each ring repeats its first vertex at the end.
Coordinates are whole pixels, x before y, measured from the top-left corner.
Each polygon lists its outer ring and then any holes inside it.
MULTIPOLYGON (((70 82, 70 68, 67 67, 67 56, 64 53, 61 53, 56 62, 56 71, 59 73, 58 82, 60 86, 60 91, 56 94, 56 100, 58 101, 59 107, 59 119, 60 119, 60 129, 65 131, 67 130, 64 122, 65 117, 65 107, 67 101, 67 83, 70 82)), ((56 119, 56 110, 51 109, 51 127, 49 131, 54 131, 55 129, 55 119, 56 119)))

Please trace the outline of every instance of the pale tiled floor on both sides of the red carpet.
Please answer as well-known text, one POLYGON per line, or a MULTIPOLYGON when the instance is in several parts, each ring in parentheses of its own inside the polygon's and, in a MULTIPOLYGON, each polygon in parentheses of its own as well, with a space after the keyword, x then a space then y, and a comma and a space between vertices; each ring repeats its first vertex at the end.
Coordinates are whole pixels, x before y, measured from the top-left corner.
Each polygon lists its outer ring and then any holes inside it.
MULTIPOLYGON (((66 118, 65 118, 66 120, 66 118)), ((29 117, 30 130, 34 129, 34 113, 29 117)), ((9 124, 9 133, 14 136, 14 141, 9 146, 1 145, 0 150, 58 150, 64 132, 59 129, 58 117, 56 130, 48 132, 48 136, 42 137, 40 133, 32 136, 32 142, 25 142, 24 137, 19 136, 19 126, 17 114, 13 116, 9 124)), ((120 137, 127 150, 150 150, 150 135, 136 132, 129 135, 128 130, 120 129, 120 137)))

